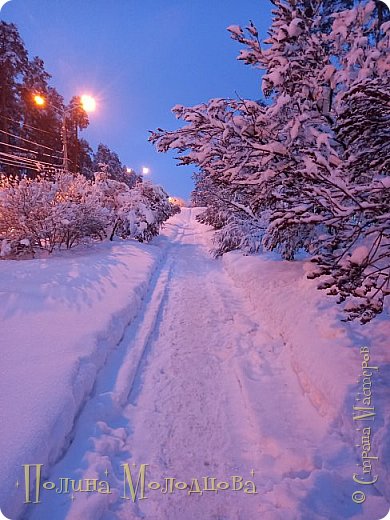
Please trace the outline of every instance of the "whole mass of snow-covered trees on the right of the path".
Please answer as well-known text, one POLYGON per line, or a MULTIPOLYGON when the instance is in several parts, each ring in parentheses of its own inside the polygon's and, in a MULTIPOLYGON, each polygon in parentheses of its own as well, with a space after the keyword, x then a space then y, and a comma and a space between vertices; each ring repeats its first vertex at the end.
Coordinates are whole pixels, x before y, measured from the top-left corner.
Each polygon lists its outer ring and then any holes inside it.
POLYGON ((216 254, 304 248, 321 286, 368 321, 389 290, 389 24, 371 0, 272 3, 264 42, 252 23, 229 27, 239 59, 263 71, 268 105, 177 106, 184 127, 151 141, 198 168, 193 198, 218 229, 216 254))

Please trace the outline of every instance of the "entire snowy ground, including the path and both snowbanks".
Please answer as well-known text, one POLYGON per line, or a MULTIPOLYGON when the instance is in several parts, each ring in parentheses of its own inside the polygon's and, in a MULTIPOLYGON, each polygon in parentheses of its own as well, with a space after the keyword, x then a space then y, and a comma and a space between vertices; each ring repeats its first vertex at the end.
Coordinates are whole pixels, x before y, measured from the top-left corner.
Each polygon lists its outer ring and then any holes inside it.
POLYGON ((99 479, 111 493, 41 489, 41 503, 19 515, 28 520, 384 517, 388 318, 364 328, 341 324, 334 302, 305 279, 303 262, 237 253, 213 260, 212 233, 195 213, 171 219, 155 246, 98 249, 89 262, 72 257, 72 269, 62 258, 44 261, 48 275, 42 261, 19 262, 16 272, 14 263, 0 264, 7 298, 1 405, 9 410, 1 436, 3 512, 11 516, 22 504, 25 489, 14 483, 23 484, 20 464, 34 462, 50 466, 43 481, 69 478, 85 486, 99 479), (355 446, 361 433, 352 420, 362 346, 380 367, 372 377, 374 421, 358 421, 372 430, 375 485, 352 479, 363 478, 355 446), (135 480, 148 464, 145 499, 142 482, 135 502, 123 498, 130 493, 127 464, 135 480), (253 482, 257 493, 202 489, 203 477, 232 483, 232 476, 236 483, 242 477, 247 491, 253 482), (202 493, 148 488, 166 478, 192 481, 202 493), (365 492, 363 504, 352 501, 354 491, 365 492))

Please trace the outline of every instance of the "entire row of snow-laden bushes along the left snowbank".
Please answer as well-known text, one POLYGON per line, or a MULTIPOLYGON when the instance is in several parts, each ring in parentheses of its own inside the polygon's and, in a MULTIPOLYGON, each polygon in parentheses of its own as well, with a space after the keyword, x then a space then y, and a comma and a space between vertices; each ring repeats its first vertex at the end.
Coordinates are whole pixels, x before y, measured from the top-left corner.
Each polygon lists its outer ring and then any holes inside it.
POLYGON ((0 178, 0 257, 71 248, 85 240, 149 241, 180 208, 159 186, 134 188, 99 172, 95 180, 57 173, 53 178, 0 178))

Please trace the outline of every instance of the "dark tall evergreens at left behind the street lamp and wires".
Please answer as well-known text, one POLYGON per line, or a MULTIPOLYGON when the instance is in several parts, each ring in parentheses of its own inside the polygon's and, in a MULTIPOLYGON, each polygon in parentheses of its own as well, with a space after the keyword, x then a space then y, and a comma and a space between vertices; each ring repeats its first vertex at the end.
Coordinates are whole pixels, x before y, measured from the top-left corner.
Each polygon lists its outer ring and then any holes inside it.
POLYGON ((78 137, 89 124, 88 115, 77 96, 66 107, 50 78, 39 57, 29 61, 16 26, 1 22, 0 160, 7 174, 34 176, 37 169, 62 167, 65 113, 70 169, 92 169, 89 145, 78 137), (36 95, 43 105, 35 103, 36 95))

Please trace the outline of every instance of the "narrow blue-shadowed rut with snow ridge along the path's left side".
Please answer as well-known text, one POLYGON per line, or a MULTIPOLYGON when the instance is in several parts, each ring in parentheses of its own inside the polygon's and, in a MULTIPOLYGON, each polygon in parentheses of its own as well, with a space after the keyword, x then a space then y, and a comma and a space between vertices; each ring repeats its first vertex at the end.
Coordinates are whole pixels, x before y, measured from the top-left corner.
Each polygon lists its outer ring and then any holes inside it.
MULTIPOLYGON (((174 242, 180 241, 183 233, 183 229, 176 226, 170 238, 174 242)), ((70 445, 51 469, 47 480, 59 482, 64 477, 104 480, 107 479, 104 472, 108 470, 109 474, 117 475, 116 484, 121 481, 120 463, 131 456, 125 449, 125 440, 131 431, 123 418, 122 408, 142 379, 151 340, 161 317, 172 268, 171 248, 172 244, 166 247, 141 309, 124 331, 116 351, 109 354, 89 400, 76 418, 70 445)), ((109 505, 118 500, 119 493, 115 491, 113 495, 77 493, 77 502, 71 502, 68 494, 46 494, 38 507, 27 508, 23 518, 98 520, 109 505)))

